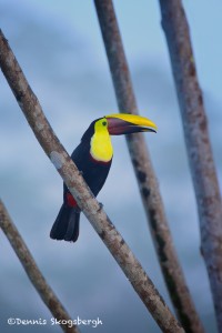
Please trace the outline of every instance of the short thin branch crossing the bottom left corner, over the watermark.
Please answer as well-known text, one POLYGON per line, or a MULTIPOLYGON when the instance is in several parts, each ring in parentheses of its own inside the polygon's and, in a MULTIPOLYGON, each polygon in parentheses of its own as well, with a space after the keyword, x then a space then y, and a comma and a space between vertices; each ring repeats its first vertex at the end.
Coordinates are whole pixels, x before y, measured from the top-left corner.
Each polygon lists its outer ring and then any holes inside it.
POLYGON ((60 303, 59 299, 49 286, 41 271, 37 266, 33 256, 31 255, 29 249, 27 248, 24 241, 22 240, 19 231, 13 224, 9 216, 9 213, 0 200, 0 228, 8 238, 11 246, 13 248, 16 254, 18 255, 27 275, 29 276, 31 283, 36 287, 40 297, 51 311, 52 315, 58 320, 63 320, 63 324, 60 324, 61 329, 65 333, 78 333, 80 332, 77 326, 69 327, 68 322, 72 322, 70 315, 64 310, 63 305, 60 303))

